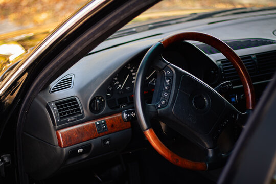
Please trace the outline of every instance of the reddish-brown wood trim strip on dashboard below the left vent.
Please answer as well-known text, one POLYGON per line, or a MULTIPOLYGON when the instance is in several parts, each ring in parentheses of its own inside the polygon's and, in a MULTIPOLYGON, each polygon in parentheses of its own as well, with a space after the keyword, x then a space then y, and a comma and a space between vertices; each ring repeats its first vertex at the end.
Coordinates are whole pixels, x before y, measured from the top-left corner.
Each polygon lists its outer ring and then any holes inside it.
POLYGON ((87 140, 95 139, 103 135, 125 130, 130 127, 130 122, 124 122, 121 113, 117 113, 97 120, 92 120, 75 126, 57 130, 56 134, 58 145, 61 148, 65 148, 67 146, 72 146, 74 144, 78 144, 87 140), (95 122, 100 120, 106 121, 108 129, 106 132, 97 132, 95 122))

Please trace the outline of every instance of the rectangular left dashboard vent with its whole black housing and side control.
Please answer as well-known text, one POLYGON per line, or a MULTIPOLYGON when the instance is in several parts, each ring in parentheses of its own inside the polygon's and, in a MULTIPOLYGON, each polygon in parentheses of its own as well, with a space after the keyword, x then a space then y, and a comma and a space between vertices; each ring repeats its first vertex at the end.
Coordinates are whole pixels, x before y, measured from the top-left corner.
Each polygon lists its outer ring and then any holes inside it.
POLYGON ((80 101, 76 97, 70 97, 48 103, 47 109, 54 115, 55 126, 79 120, 84 117, 80 101))

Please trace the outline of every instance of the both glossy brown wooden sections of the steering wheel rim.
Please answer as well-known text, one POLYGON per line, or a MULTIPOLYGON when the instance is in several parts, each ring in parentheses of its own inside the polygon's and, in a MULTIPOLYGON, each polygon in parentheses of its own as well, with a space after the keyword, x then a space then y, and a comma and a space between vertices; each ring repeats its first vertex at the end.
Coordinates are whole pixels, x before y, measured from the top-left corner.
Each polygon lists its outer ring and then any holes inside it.
MULTIPOLYGON (((223 41, 220 39, 213 37, 211 35, 200 33, 200 32, 182 32, 170 35, 159 42, 163 44, 163 47, 166 48, 170 44, 177 41, 200 41, 206 44, 211 45, 220 51, 235 67, 238 75, 242 81, 242 85, 244 88, 244 93, 246 97, 246 108, 253 109, 255 106, 255 93, 252 81, 250 76, 246 70, 245 65, 243 64, 240 57, 223 41)), ((153 148, 164 158, 169 160, 172 164, 177 166, 192 169, 192 170, 208 170, 208 163, 205 162, 193 162, 191 160, 182 158, 172 151, 170 151, 157 137, 154 130, 149 128, 144 131, 145 136, 147 137, 150 144, 153 148)))

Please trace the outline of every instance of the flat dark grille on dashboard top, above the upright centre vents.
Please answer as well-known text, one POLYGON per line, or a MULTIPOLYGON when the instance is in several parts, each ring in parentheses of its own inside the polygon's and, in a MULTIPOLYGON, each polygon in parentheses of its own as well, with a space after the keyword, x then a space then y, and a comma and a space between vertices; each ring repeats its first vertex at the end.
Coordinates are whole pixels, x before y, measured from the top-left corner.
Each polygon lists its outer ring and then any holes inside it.
MULTIPOLYGON (((229 47, 231 47, 233 50, 258 47, 258 46, 268 45, 268 44, 276 44, 276 41, 268 40, 268 39, 239 39, 239 40, 225 40, 224 42, 227 45, 229 45, 229 47)), ((213 48, 208 44, 196 43, 195 45, 206 54, 219 53, 218 50, 216 50, 215 48, 213 48)))

